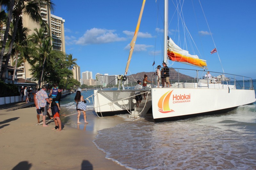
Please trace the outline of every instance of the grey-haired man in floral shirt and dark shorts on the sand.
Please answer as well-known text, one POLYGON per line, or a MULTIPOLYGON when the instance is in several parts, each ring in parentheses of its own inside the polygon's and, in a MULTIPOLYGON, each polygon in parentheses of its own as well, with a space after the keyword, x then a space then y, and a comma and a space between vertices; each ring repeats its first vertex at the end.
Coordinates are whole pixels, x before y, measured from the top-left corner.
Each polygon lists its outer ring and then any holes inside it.
POLYGON ((41 114, 43 116, 43 126, 46 127, 48 125, 45 124, 45 119, 46 119, 46 115, 47 115, 47 108, 46 108, 46 102, 50 103, 50 100, 48 99, 48 95, 45 92, 47 89, 46 85, 43 85, 42 90, 38 91, 36 93, 36 99, 38 101, 38 105, 36 106, 36 109, 41 109, 41 111, 43 112, 43 114, 41 114))

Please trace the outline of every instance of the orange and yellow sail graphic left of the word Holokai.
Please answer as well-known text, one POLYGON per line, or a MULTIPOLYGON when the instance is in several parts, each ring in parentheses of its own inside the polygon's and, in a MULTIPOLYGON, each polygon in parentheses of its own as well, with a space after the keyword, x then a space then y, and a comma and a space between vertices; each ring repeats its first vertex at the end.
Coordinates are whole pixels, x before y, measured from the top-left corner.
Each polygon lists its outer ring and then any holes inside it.
POLYGON ((160 99, 158 101, 158 111, 159 112, 161 112, 161 113, 174 112, 174 110, 170 109, 170 106, 169 106, 169 100, 170 100, 172 91, 166 92, 166 93, 164 93, 163 96, 160 97, 160 99))

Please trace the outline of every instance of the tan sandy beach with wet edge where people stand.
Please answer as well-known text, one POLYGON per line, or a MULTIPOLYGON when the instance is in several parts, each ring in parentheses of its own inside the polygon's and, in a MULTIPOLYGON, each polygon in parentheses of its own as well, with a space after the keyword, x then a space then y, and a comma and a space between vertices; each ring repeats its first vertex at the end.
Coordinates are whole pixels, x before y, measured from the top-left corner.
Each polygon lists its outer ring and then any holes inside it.
POLYGON ((106 159, 92 142, 97 130, 123 123, 120 117, 98 118, 88 111, 86 129, 62 121, 59 132, 52 130, 54 122, 36 125, 35 107, 7 110, 0 109, 0 169, 126 169, 106 159))

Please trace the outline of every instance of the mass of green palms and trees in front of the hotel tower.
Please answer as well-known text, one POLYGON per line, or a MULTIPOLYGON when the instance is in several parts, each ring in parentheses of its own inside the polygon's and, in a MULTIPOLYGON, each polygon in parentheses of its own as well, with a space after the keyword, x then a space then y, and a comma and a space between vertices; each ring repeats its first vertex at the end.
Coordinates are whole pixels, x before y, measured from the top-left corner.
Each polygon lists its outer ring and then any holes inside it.
POLYGON ((32 81, 38 81, 38 86, 58 83, 60 88, 72 89, 80 86, 73 79, 72 68, 76 65, 76 58, 72 54, 66 55, 53 50, 52 37, 49 35, 49 26, 40 15, 41 6, 53 9, 51 0, 0 0, 0 70, 3 70, 1 79, 5 79, 7 65, 12 57, 14 75, 17 67, 23 65, 26 79, 25 63, 31 65, 32 81), (22 15, 27 15, 32 21, 40 25, 28 36, 30 31, 22 25, 22 15), (3 31, 3 27, 6 27, 3 31), (4 36, 3 36, 4 33, 4 36), (2 62, 4 63, 2 69, 2 62))

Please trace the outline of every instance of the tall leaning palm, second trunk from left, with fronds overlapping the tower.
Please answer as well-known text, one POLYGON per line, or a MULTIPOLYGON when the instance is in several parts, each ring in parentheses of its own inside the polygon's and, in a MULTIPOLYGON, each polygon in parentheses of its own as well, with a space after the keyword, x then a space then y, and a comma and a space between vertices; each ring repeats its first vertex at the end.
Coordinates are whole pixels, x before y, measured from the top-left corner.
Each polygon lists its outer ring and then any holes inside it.
POLYGON ((7 65, 10 60, 12 45, 14 43, 14 39, 16 36, 17 28, 18 28, 17 27, 18 22, 19 22, 19 20, 22 20, 21 15, 26 14, 29 16, 29 18, 32 21, 36 22, 37 24, 44 23, 44 25, 47 25, 46 22, 42 19, 41 14, 40 14, 41 5, 42 6, 46 5, 47 7, 52 8, 54 4, 51 2, 51 0, 15 0, 14 9, 12 12, 12 16, 13 16, 12 19, 13 19, 13 23, 14 23, 13 36, 12 36, 12 39, 10 42, 9 51, 7 53, 6 61, 4 63, 2 79, 5 79, 5 72, 7 70, 7 65))

